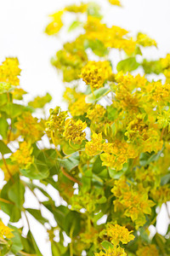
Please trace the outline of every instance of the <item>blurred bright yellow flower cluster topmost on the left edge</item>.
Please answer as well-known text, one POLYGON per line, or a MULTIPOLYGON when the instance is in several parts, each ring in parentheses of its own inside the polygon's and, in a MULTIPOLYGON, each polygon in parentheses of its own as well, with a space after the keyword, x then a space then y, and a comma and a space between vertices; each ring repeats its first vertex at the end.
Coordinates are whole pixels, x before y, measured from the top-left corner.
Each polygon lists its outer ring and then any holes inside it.
POLYGON ((6 58, 0 66, 0 82, 19 85, 20 80, 18 76, 20 76, 20 71, 17 58, 6 58))

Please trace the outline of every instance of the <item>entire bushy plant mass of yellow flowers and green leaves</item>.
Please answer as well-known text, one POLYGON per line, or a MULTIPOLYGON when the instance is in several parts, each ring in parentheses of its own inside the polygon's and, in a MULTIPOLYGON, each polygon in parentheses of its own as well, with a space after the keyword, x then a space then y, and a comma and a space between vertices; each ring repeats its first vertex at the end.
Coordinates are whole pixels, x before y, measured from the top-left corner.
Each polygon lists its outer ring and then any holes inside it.
MULTIPOLYGON (((109 2, 121 6, 119 0, 109 2)), ((17 58, 6 58, 0 66, 0 207, 9 218, 8 226, 0 221, 0 255, 43 255, 31 233, 31 215, 47 230, 54 256, 84 251, 89 256, 167 256, 170 228, 160 235, 157 215, 170 201, 170 55, 144 59, 144 47, 156 41, 107 26, 97 3, 69 5, 51 15, 48 35, 63 29, 68 13, 75 16, 68 32, 81 28, 82 34, 52 60, 67 82, 68 111, 56 107, 45 113, 52 101, 48 93, 26 103, 17 58), (125 56, 116 73, 111 49, 125 56), (133 76, 138 67, 144 76, 133 76), (166 82, 150 81, 150 73, 164 75, 166 82), (27 191, 38 208, 26 207, 27 191), (153 237, 150 225, 156 230, 153 237), (71 239, 67 245, 65 236, 71 239)))

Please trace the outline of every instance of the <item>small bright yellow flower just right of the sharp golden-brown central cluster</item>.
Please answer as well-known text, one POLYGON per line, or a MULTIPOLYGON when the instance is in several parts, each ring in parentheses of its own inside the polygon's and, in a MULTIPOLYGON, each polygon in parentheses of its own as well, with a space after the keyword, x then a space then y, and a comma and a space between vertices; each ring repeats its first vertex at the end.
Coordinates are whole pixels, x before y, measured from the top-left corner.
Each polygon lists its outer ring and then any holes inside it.
POLYGON ((103 139, 101 133, 93 133, 91 142, 86 143, 85 151, 88 155, 97 155, 103 151, 103 139))

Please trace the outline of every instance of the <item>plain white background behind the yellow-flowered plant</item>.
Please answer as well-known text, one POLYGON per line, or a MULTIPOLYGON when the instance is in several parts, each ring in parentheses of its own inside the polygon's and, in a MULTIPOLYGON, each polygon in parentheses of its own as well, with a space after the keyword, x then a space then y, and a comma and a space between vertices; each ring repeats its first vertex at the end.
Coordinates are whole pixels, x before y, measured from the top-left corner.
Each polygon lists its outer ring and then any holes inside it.
MULTIPOLYGON (((48 15, 61 9, 66 4, 80 3, 72 0, 0 0, 0 62, 6 56, 17 56, 22 69, 21 86, 31 93, 44 95, 49 92, 54 96, 52 106, 61 104, 63 85, 50 64, 50 58, 61 47, 55 37, 43 33, 48 24, 48 15)), ((170 52, 170 0, 124 0, 123 9, 112 7, 106 0, 101 3, 108 24, 122 26, 132 34, 145 32, 155 38, 158 49, 147 49, 145 55, 150 59, 165 56, 170 52)), ((65 38, 61 38, 62 41, 65 38)), ((54 199, 58 195, 50 189, 54 199)), ((27 196, 26 206, 37 206, 31 195, 27 196)), ((161 224, 158 230, 165 231, 166 211, 161 211, 161 224)), ((31 220, 31 230, 36 236, 42 254, 50 256, 49 244, 42 227, 31 220)), ((55 224, 51 218, 52 224, 55 224)))

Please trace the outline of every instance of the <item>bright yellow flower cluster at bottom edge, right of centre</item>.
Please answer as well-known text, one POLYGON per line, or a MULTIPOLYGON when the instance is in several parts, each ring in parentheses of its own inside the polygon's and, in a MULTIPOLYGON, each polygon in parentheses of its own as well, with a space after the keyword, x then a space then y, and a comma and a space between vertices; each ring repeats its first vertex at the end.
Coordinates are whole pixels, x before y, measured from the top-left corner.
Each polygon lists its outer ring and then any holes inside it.
POLYGON ((117 246, 120 241, 122 244, 127 244, 127 242, 134 239, 134 236, 131 234, 133 231, 128 231, 126 227, 118 224, 108 224, 106 231, 107 236, 110 237, 111 243, 114 244, 114 246, 117 246))

